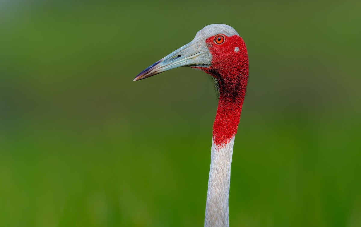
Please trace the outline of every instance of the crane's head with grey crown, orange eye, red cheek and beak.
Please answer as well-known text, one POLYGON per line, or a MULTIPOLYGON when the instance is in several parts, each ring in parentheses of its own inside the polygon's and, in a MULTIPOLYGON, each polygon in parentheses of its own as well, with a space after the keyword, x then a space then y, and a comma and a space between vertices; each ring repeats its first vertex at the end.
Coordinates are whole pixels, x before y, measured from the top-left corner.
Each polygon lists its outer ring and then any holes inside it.
POLYGON ((242 75, 247 74, 248 77, 247 49, 243 39, 231 26, 208 25, 197 32, 190 43, 143 70, 134 81, 181 66, 205 71, 217 79, 219 88, 222 89, 227 84, 234 84, 238 79, 237 75, 240 75, 237 73, 239 71, 243 70, 242 75))

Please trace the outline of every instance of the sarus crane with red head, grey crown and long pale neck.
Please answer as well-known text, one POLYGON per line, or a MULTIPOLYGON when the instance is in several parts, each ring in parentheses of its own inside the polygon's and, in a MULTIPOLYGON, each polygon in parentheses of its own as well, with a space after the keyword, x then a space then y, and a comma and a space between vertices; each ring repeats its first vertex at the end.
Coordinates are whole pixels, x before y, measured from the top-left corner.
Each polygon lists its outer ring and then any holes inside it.
POLYGON ((204 226, 227 227, 233 144, 248 79, 246 45, 231 26, 208 25, 190 43, 143 70, 134 81, 180 66, 210 74, 219 90, 204 226))

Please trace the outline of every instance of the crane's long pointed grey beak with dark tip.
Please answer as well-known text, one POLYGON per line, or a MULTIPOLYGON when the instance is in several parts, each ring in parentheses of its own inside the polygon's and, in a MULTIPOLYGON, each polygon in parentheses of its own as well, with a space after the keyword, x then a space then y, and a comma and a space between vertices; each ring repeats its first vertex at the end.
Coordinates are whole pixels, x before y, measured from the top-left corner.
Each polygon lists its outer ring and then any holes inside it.
POLYGON ((153 75, 175 69, 181 66, 209 67, 212 54, 205 45, 194 40, 176 51, 168 54, 153 65, 139 73, 133 81, 142 80, 153 75))

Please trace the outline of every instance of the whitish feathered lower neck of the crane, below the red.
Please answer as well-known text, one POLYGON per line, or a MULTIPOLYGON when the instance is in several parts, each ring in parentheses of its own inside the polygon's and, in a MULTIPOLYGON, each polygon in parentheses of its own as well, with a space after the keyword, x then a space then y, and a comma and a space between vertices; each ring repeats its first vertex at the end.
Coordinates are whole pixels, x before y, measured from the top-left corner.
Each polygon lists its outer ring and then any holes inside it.
POLYGON ((228 197, 234 136, 221 146, 212 143, 205 227, 229 227, 228 197))

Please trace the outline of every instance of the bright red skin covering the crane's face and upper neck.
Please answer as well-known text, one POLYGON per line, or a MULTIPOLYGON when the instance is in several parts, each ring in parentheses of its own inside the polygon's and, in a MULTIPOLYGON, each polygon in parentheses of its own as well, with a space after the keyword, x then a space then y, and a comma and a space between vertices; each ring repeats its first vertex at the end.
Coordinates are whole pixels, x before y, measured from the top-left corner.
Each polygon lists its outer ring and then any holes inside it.
POLYGON ((217 79, 219 102, 213 125, 213 142, 222 146, 236 134, 248 79, 248 55, 246 45, 238 35, 226 36, 222 44, 216 44, 211 36, 205 40, 212 54, 209 68, 197 67, 217 79), (238 47, 239 51, 235 51, 238 47))

